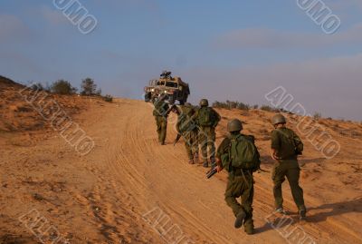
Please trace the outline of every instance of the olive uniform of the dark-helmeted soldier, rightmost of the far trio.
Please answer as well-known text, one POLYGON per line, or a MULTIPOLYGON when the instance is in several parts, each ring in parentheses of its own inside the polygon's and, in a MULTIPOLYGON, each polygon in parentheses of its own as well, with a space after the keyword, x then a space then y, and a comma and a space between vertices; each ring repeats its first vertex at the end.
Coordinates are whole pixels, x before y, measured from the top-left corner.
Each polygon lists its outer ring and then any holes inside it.
POLYGON ((209 108, 214 113, 214 122, 211 126, 203 126, 202 123, 200 122, 201 118, 199 115, 201 113, 201 110, 206 108, 208 107, 201 107, 196 112, 196 121, 197 124, 199 125, 198 142, 200 143, 201 146, 201 152, 203 155, 204 163, 207 162, 208 156, 210 156, 210 161, 212 162, 212 164, 214 164, 214 155, 215 155, 214 142, 216 140, 215 128, 218 122, 220 122, 221 116, 219 113, 214 111, 214 109, 209 108), (208 155, 207 155, 207 147, 209 148, 208 155))

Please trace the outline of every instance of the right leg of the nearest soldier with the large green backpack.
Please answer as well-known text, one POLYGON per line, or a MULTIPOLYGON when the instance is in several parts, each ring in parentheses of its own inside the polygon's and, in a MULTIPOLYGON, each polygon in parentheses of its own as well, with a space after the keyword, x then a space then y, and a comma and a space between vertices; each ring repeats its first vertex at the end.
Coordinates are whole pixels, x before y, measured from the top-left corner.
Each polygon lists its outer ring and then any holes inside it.
POLYGON ((246 180, 247 183, 244 182, 245 185, 242 193, 242 206, 246 214, 243 226, 246 233, 252 234, 254 231, 254 222, 252 220, 252 200, 254 197, 254 183, 252 177, 247 177, 246 180))

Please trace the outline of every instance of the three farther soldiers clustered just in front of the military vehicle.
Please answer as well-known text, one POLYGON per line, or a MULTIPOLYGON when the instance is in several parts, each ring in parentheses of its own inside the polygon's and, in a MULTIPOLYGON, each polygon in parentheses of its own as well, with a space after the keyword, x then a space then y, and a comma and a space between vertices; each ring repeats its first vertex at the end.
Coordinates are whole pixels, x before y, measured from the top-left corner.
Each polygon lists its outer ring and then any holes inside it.
POLYGON ((170 112, 177 114, 176 131, 185 140, 188 162, 195 164, 199 161, 199 148, 201 148, 203 166, 207 168, 209 162, 215 166, 215 128, 220 122, 219 113, 209 107, 206 99, 200 101, 200 106, 193 106, 186 102, 184 105, 169 105, 166 96, 160 96, 154 102, 157 124, 158 142, 165 145, 167 136, 167 117, 170 112), (209 150, 207 150, 209 149, 209 150))

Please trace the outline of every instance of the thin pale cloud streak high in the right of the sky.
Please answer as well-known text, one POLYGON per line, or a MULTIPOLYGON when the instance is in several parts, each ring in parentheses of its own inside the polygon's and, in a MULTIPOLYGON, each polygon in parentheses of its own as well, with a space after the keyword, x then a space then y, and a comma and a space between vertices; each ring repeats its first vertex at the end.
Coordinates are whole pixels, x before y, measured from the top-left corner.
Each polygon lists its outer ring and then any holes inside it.
POLYGON ((319 48, 338 44, 360 44, 362 23, 336 34, 310 34, 272 29, 243 29, 221 35, 214 41, 218 48, 319 48))

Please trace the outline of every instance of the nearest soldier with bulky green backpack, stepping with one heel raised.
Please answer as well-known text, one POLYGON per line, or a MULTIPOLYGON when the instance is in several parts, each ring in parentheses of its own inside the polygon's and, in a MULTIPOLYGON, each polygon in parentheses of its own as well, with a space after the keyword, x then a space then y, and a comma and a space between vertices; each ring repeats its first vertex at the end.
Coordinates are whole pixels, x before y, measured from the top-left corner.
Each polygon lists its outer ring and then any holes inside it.
POLYGON ((229 172, 225 201, 236 218, 234 227, 244 227, 248 235, 254 233, 252 220, 253 178, 252 172, 260 168, 260 154, 254 137, 243 135, 243 123, 234 119, 227 124, 230 136, 226 137, 216 152, 217 172, 229 172), (242 204, 236 199, 241 197, 242 204))

